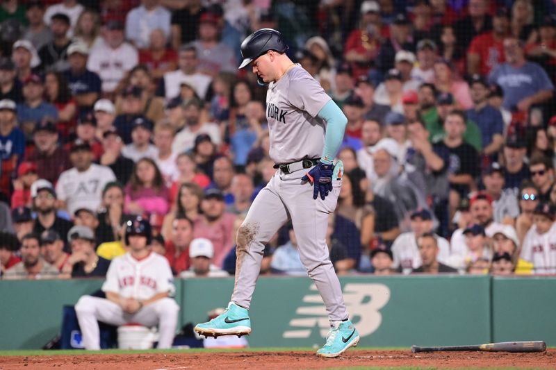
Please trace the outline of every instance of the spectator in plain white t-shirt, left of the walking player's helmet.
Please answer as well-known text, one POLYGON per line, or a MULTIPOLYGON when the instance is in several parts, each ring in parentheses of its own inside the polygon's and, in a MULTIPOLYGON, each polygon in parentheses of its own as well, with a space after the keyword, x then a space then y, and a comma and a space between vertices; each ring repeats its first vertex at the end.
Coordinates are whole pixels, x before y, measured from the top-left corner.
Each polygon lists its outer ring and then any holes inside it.
MULTIPOLYGON (((187 83, 195 88, 199 99, 206 99, 206 92, 211 85, 212 78, 199 71, 199 58, 194 44, 186 44, 179 49, 178 67, 176 71, 164 74, 162 91, 160 95, 167 100, 179 96, 182 83, 187 83)), ((235 70, 234 70, 235 73, 235 70)))

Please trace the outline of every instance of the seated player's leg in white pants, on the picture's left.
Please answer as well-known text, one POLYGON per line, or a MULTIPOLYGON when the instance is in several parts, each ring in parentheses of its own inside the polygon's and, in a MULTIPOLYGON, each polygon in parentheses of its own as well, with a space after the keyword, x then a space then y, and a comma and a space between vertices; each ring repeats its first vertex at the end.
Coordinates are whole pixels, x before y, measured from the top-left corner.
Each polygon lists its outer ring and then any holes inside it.
POLYGON ((83 346, 85 349, 100 349, 99 322, 123 325, 124 311, 122 308, 106 298, 82 296, 75 305, 83 346))

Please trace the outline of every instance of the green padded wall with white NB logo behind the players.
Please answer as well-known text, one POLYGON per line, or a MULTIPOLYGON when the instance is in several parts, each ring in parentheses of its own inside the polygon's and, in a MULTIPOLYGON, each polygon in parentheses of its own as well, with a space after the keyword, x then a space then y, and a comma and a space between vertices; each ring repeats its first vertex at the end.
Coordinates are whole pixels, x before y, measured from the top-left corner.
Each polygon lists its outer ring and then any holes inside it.
MULTIPOLYGON (((62 308, 101 280, 0 281, 0 349, 40 348, 62 308)), ((341 278, 362 346, 455 345, 537 339, 556 345, 556 278, 341 278)), ((180 325, 225 307, 232 278, 177 280, 180 325)), ((309 278, 262 277, 250 311, 251 346, 322 345, 328 319, 309 278)))

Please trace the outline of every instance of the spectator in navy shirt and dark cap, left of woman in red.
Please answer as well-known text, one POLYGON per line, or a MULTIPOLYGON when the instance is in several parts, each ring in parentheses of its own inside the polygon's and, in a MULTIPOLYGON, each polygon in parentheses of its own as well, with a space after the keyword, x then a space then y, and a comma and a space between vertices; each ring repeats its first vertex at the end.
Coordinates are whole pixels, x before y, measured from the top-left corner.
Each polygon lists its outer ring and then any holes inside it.
POLYGON ((44 81, 38 75, 28 76, 23 81, 24 102, 17 105, 17 121, 24 133, 31 136, 35 126, 46 120, 57 120, 58 110, 44 101, 44 81))

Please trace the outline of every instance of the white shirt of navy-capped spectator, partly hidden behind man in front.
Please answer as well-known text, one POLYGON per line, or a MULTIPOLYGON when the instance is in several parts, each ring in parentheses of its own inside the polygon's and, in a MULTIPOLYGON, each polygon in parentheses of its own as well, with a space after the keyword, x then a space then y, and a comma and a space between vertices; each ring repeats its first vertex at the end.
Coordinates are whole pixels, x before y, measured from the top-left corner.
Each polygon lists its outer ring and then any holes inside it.
MULTIPOLYGON (((439 245, 439 254, 436 259, 443 264, 448 264, 448 259, 450 257, 450 243, 443 237, 436 236, 436 241, 439 245)), ((416 269, 423 264, 421 260, 421 255, 419 253, 419 247, 417 246, 417 240, 415 239, 415 233, 403 233, 402 235, 395 238, 392 244, 392 254, 393 254, 393 264, 392 267, 397 269, 402 267, 403 274, 411 274, 412 269, 416 269)))

